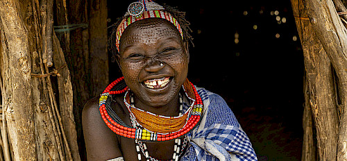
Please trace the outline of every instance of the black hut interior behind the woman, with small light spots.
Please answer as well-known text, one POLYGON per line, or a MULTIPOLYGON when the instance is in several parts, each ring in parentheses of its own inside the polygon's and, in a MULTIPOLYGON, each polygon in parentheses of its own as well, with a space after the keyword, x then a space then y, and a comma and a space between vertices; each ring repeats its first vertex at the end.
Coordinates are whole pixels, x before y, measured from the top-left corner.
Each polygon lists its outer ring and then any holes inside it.
MULTIPOLYGON (((108 1, 109 26, 131 2, 108 1)), ((258 160, 300 160, 304 66, 290 1, 156 2, 187 12, 195 45, 188 78, 226 100, 258 160)), ((119 76, 110 61, 110 81, 119 76)))

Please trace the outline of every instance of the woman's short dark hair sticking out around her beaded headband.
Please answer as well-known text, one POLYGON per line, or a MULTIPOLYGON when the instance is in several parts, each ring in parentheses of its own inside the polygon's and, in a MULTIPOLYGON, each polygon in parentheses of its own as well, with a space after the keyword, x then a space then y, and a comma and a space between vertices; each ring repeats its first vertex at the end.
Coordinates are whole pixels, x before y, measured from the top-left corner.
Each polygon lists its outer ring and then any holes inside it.
MULTIPOLYGON (((192 44, 192 46, 194 46, 193 37, 192 35, 190 35, 190 33, 192 33, 192 29, 189 28, 190 23, 187 21, 187 19, 185 19, 185 12, 178 10, 177 7, 171 7, 165 4, 163 5, 163 7, 165 8, 164 11, 169 12, 174 18, 178 20, 178 24, 180 24, 180 27, 182 28, 183 42, 188 42, 188 44, 190 43, 192 44)), ((115 43, 117 27, 119 26, 119 24, 121 24, 121 21, 125 18, 126 17, 117 18, 117 22, 113 24, 112 26, 110 26, 112 27, 112 31, 108 39, 108 47, 112 53, 112 61, 115 60, 115 56, 119 54, 117 51, 116 43, 115 43)))

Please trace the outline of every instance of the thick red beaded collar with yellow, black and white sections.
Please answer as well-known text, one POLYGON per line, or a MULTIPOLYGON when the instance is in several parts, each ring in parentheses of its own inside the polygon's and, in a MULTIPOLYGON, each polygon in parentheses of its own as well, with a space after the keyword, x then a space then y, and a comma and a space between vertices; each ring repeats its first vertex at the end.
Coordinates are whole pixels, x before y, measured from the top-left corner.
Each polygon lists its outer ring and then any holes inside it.
MULTIPOLYGON (((108 97, 112 96, 113 94, 124 93, 128 90, 128 87, 124 82, 124 77, 118 78, 113 83, 108 85, 108 87, 106 87, 106 89, 103 91, 103 94, 101 94, 99 99, 99 110, 101 117, 103 118, 103 121, 105 121, 108 128, 110 128, 117 135, 153 142, 176 139, 186 135, 189 133, 189 131, 193 130, 196 125, 198 125, 198 122, 201 119, 201 113, 203 111, 203 102, 201 101, 201 97, 198 95, 194 85, 190 83, 189 80, 186 80, 183 84, 183 89, 185 90, 185 94, 194 99, 195 102, 192 105, 192 110, 189 110, 189 116, 185 120, 185 125, 183 128, 176 131, 170 133, 158 133, 158 131, 155 131, 155 129, 151 131, 142 126, 130 127, 116 115, 115 111, 113 111, 110 107, 110 99, 108 99, 108 97)), ((131 110, 129 112, 131 113, 131 110)), ((164 119, 166 118, 164 116, 158 116, 164 119)), ((133 116, 130 115, 130 117, 133 116)))

